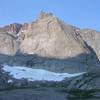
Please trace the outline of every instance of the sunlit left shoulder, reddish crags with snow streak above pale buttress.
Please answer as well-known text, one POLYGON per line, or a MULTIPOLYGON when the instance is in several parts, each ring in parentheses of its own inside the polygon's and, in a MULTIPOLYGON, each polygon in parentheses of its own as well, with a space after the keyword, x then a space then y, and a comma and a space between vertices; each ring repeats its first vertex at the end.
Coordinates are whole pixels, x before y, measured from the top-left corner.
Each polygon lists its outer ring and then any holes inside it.
POLYGON ((14 55, 18 50, 17 33, 21 24, 10 24, 0 28, 0 54, 14 55))

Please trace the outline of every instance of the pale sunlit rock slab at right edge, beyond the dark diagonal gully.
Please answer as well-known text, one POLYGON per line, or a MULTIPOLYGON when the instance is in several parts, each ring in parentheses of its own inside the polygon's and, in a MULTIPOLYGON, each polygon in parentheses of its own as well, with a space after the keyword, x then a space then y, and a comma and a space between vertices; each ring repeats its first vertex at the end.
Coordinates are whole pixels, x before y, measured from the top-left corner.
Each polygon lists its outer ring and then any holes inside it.
POLYGON ((83 29, 81 30, 81 36, 87 44, 94 49, 100 59, 100 32, 91 29, 83 29))

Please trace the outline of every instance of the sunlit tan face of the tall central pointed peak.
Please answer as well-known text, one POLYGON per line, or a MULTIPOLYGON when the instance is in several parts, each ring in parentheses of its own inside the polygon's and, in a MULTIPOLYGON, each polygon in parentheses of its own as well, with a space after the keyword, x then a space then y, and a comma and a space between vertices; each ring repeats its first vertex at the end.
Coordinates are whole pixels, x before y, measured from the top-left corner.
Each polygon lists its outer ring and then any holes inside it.
POLYGON ((89 52, 74 27, 65 25, 51 14, 42 13, 36 22, 25 24, 19 36, 23 37, 20 51, 28 54, 68 58, 89 52))

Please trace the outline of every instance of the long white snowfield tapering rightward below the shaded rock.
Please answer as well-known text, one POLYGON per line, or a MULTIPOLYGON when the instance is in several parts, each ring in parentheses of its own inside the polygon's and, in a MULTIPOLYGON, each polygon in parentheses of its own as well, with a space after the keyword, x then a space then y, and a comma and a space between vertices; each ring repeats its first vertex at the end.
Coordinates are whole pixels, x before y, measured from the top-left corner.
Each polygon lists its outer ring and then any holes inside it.
POLYGON ((10 75, 13 76, 15 79, 27 79, 28 81, 62 81, 65 78, 71 78, 76 77, 79 75, 82 75, 86 72, 82 73, 74 73, 74 74, 68 74, 68 73, 55 73, 50 72, 44 69, 32 69, 28 67, 22 67, 22 66, 8 66, 3 65, 3 70, 5 72, 9 72, 10 75))

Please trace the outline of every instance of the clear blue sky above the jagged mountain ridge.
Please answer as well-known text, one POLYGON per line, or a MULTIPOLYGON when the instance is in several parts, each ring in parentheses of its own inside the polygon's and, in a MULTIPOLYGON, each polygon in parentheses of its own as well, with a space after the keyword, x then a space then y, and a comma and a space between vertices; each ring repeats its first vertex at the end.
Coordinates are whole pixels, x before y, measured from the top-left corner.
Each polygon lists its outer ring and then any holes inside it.
POLYGON ((0 0, 0 26, 31 22, 41 10, 65 23, 100 31, 100 0, 0 0))

